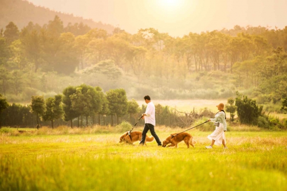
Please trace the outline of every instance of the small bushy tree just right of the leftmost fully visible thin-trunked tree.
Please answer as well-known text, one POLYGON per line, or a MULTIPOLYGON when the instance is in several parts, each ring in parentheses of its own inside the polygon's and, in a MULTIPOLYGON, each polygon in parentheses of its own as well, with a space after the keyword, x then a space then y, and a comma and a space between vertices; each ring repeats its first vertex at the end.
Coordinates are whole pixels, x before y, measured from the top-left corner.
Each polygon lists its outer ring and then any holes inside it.
POLYGON ((53 121, 55 119, 59 119, 63 115, 63 108, 61 105, 62 101, 62 96, 61 95, 56 95, 55 97, 49 97, 46 99, 46 111, 42 118, 44 121, 51 121, 52 128, 53 126, 53 121))

